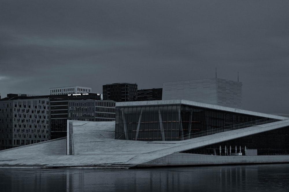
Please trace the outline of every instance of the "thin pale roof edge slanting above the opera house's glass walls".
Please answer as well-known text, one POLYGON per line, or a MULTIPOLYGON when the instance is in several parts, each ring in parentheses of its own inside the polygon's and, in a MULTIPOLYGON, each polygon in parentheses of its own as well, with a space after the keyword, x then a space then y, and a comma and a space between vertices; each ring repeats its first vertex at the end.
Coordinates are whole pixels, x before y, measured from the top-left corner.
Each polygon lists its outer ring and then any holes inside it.
POLYGON ((288 117, 283 117, 283 116, 278 116, 278 115, 247 111, 243 109, 236 109, 236 108, 231 108, 231 107, 224 107, 220 105, 200 103, 200 102, 188 101, 188 100, 182 100, 182 99, 116 102, 116 107, 137 106, 137 105, 161 105, 161 104, 186 104, 186 105, 191 105, 195 107, 204 107, 208 109, 216 109, 216 110, 221 110, 221 111, 241 113, 241 114, 246 114, 246 115, 254 115, 254 116, 259 116, 259 117, 267 117, 267 118, 272 118, 272 119, 279 119, 279 120, 289 119, 288 117))

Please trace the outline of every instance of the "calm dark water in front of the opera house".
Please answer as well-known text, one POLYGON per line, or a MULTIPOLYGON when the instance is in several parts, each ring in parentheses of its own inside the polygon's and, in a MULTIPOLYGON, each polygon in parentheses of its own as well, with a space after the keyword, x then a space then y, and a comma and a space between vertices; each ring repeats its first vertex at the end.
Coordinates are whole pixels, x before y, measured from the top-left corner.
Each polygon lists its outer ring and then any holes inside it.
POLYGON ((289 191, 289 164, 153 169, 0 168, 0 191, 289 191))

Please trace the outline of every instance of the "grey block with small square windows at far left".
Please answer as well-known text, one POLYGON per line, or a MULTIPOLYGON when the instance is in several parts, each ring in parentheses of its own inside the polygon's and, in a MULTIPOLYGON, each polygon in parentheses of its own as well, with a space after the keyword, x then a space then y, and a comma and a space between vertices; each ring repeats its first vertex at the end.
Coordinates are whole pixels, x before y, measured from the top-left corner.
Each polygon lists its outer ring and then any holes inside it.
POLYGON ((0 150, 50 139, 49 98, 19 96, 0 101, 0 150))

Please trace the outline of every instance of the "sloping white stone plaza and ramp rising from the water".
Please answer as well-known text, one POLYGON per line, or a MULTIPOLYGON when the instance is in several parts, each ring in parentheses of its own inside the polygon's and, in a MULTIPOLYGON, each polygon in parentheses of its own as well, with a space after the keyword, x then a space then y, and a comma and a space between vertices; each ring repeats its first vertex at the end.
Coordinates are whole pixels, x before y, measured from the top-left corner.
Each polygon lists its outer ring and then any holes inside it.
MULTIPOLYGON (((168 161, 167 156, 169 158, 174 157, 179 159, 180 157, 178 155, 180 153, 177 153, 179 151, 194 149, 205 145, 211 145, 234 138, 289 126, 289 119, 287 119, 283 121, 267 123, 261 126, 252 126, 183 141, 144 142, 133 140, 115 140, 115 122, 72 122, 75 155, 66 155, 67 148, 65 138, 50 140, 43 143, 26 145, 23 147, 0 151, 0 166, 131 167, 141 164, 146 165, 146 163, 147 166, 153 166, 155 163, 149 164, 148 162, 157 162, 156 159, 160 158, 165 158, 165 161, 168 161), (171 156, 172 154, 177 155, 171 156)), ((216 159, 210 160, 210 158, 219 158, 218 156, 208 156, 210 155, 202 156, 201 160, 203 159, 203 164, 214 164, 216 159), (206 159, 206 157, 209 159, 206 159)), ((250 158, 253 157, 250 156, 250 158)), ((257 161, 258 159, 262 160, 262 157, 257 156, 256 158, 251 162, 257 161)), ((289 158, 289 156, 287 158, 289 158)), ((197 162, 200 162, 201 160, 199 159, 195 163, 197 164, 197 162)), ((236 161, 236 163, 238 163, 239 160, 236 161)), ((265 162, 261 160, 260 162, 265 162)), ((218 162, 223 161, 225 160, 220 159, 218 162)), ((231 159, 231 163, 232 161, 234 161, 234 159, 231 159)), ((289 162, 289 159, 286 160, 285 158, 284 161, 289 162)), ((184 162, 182 165, 185 165, 186 163, 186 161, 181 162, 184 162)), ((176 163, 175 159, 172 159, 166 163, 166 165, 173 163, 176 163)))

